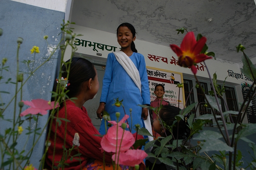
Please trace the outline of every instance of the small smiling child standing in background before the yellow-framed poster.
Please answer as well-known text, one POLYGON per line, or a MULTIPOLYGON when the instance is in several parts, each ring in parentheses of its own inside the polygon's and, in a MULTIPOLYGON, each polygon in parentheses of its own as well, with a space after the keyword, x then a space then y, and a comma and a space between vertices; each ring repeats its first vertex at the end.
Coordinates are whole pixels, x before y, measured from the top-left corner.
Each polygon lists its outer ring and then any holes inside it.
MULTIPOLYGON (((156 95, 156 99, 150 103, 151 107, 158 108, 161 105, 170 105, 170 102, 165 101, 163 99, 163 96, 164 96, 164 93, 165 93, 164 85, 162 85, 162 84, 156 85, 154 93, 156 95)), ((150 110, 149 113, 150 113, 150 120, 151 120, 151 125, 152 125, 153 136, 154 136, 154 138, 158 138, 160 136, 160 134, 155 132, 154 129, 153 129, 153 120, 156 119, 156 113, 154 113, 154 111, 152 111, 152 110, 150 110)))

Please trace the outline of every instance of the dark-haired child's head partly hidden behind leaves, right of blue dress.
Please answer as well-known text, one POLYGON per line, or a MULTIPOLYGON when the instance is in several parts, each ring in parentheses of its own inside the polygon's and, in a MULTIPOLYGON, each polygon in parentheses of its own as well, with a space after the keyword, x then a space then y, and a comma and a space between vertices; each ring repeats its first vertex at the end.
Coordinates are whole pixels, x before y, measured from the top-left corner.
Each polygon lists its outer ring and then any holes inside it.
MULTIPOLYGON (((172 126, 172 124, 176 120, 175 116, 178 115, 179 113, 180 113, 180 108, 171 106, 171 105, 164 105, 162 109, 159 111, 159 117, 160 119, 162 119, 162 121, 166 123, 166 125, 172 126)), ((160 125, 159 117, 156 117, 156 119, 154 120, 154 123, 153 123, 154 131, 158 132, 161 136, 165 136, 164 128, 162 127, 162 125, 160 125)), ((177 122, 174 125, 175 126, 172 127, 172 133, 174 135, 174 138, 176 138, 177 130, 178 130, 177 122)), ((167 136, 169 136, 171 132, 166 129, 166 134, 167 136)), ((188 138, 189 134, 190 134, 190 130, 187 127, 186 122, 183 120, 180 120, 178 139, 188 138)))

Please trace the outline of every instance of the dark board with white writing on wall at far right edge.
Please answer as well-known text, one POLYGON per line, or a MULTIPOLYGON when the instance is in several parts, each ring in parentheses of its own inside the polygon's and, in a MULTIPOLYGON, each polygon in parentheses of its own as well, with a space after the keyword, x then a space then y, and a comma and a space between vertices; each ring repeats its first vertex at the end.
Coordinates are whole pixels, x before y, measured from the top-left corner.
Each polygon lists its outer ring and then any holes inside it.
MULTIPOLYGON (((248 101, 249 99, 248 98, 246 99, 246 96, 248 95, 249 89, 252 87, 252 85, 244 81, 241 83, 241 87, 242 87, 243 98, 244 100, 248 101)), ((252 93, 250 95, 252 95, 252 93)), ((256 113, 256 96, 252 98, 252 106, 248 107, 246 111, 248 123, 256 123, 255 113, 256 113)))

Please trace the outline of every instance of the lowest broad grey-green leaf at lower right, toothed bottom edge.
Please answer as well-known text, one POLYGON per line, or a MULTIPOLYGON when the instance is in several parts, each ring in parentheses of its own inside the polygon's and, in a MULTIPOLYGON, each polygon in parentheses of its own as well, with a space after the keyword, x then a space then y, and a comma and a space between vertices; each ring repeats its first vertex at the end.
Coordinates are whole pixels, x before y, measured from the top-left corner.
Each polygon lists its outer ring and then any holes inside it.
POLYGON ((226 152, 233 152, 234 149, 230 146, 228 146, 226 143, 219 139, 208 139, 206 142, 204 142, 204 145, 201 146, 200 153, 202 152, 208 152, 208 151, 219 151, 219 150, 225 150, 226 152))

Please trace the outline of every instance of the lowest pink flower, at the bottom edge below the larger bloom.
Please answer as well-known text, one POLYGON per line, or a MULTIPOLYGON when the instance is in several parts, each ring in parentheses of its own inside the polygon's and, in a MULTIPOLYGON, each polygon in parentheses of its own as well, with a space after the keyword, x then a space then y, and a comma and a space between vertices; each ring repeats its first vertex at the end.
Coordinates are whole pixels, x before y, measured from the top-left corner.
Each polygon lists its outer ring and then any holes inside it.
MULTIPOLYGON (((144 150, 127 150, 127 152, 119 153, 119 161, 118 164, 126 165, 126 166, 135 166, 140 164, 148 154, 144 150)), ((118 158, 118 154, 112 155, 112 159, 115 161, 115 158, 118 158)), ((117 163, 117 161, 115 161, 117 163)))

